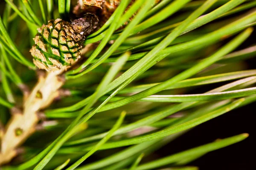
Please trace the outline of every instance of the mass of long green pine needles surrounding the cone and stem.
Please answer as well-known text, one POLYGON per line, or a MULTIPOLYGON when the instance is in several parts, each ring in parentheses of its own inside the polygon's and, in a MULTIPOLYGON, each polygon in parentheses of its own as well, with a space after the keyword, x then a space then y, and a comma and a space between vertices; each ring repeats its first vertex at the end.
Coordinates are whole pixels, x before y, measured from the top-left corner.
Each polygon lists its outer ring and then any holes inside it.
MULTIPOLYGON (((22 105, 20 88, 37 82, 29 53, 37 28, 50 19, 68 20, 76 3, 5 1, 0 18, 2 129, 10 110, 22 105)), ((64 73, 69 95, 40 113, 44 119, 38 131, 3 170, 195 170, 186 164, 247 138, 243 133, 212 139, 148 159, 192 127, 256 101, 256 70, 244 64, 256 56, 256 44, 242 45, 256 25, 256 1, 135 0, 126 10, 129 3, 121 0, 109 20, 87 37, 85 45, 97 45, 64 73), (202 88, 208 91, 201 94, 202 88)))

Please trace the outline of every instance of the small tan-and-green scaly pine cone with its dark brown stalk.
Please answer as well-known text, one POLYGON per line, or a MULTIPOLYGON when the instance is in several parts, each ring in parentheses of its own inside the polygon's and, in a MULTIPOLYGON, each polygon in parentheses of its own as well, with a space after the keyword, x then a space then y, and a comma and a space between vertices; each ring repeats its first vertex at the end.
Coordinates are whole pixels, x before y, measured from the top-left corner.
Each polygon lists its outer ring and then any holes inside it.
POLYGON ((80 56, 83 42, 99 23, 95 14, 87 13, 71 23, 56 19, 38 28, 30 50, 34 64, 47 71, 69 68, 80 56))

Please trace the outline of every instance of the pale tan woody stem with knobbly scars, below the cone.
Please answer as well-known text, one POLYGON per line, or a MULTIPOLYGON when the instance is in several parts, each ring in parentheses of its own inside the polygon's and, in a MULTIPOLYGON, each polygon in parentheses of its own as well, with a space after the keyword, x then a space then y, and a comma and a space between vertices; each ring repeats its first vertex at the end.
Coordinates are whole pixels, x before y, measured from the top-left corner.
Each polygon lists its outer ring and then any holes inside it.
POLYGON ((2 134, 0 165, 17 156, 17 147, 35 132, 39 121, 37 113, 58 96, 58 90, 64 84, 64 79, 60 77, 64 71, 58 70, 40 76, 33 91, 24 99, 23 111, 12 109, 12 118, 2 134))

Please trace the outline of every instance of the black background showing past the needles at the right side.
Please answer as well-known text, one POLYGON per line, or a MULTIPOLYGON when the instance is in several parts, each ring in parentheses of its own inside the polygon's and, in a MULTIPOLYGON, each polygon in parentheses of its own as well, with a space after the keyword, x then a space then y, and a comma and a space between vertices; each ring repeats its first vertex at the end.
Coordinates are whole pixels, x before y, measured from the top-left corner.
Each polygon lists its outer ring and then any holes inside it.
MULTIPOLYGON (((240 48, 256 43, 256 27, 253 34, 240 48)), ((248 69, 256 69, 256 57, 247 59, 248 69)), ((204 90, 204 89, 202 89, 204 90)), ((244 141, 207 153, 189 163, 200 170, 256 170, 256 102, 225 113, 215 119, 198 125, 157 151, 160 157, 169 156, 192 147, 227 138, 241 133, 249 133, 244 141)))

